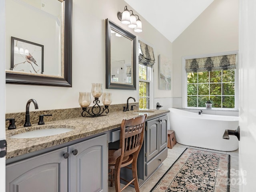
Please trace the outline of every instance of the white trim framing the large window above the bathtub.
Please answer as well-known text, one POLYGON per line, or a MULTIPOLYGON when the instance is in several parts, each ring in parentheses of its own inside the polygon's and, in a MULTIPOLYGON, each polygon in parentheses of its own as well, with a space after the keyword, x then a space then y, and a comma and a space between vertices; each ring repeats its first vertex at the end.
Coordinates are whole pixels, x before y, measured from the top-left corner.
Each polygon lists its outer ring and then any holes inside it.
MULTIPOLYGON (((187 73, 186 73, 186 59, 194 58, 204 58, 204 57, 214 57, 222 56, 228 54, 236 54, 236 70, 235 70, 235 108, 233 110, 238 110, 238 50, 229 52, 220 52, 216 54, 203 54, 203 55, 193 55, 182 57, 182 108, 200 108, 200 107, 188 107, 187 106, 187 73)), ((202 108, 202 107, 201 107, 202 108)), ((230 108, 216 108, 218 110, 231 110, 230 108)))

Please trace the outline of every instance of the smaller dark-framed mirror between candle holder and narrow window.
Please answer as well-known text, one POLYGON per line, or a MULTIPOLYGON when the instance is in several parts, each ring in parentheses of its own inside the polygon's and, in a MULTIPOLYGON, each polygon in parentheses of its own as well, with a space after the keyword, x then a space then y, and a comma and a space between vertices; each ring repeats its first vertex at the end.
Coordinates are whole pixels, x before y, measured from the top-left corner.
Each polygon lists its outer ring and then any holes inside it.
POLYGON ((106 88, 136 90, 136 36, 106 19, 106 88))

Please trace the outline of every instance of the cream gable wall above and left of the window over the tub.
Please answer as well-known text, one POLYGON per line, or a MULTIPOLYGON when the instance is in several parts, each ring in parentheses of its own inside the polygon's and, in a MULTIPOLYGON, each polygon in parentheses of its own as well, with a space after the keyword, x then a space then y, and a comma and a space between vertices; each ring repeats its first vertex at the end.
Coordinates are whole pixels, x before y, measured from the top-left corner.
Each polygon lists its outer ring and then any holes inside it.
POLYGON ((238 17, 238 0, 214 0, 174 40, 172 44, 174 98, 182 98, 182 56, 238 50, 238 17))

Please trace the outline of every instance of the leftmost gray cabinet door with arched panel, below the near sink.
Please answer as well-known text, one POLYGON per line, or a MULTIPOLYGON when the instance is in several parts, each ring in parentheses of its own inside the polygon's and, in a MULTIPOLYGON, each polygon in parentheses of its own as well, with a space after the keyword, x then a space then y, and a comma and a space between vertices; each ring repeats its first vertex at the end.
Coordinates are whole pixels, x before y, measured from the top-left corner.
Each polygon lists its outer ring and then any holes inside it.
POLYGON ((68 159, 62 148, 6 166, 6 192, 68 192, 68 159))

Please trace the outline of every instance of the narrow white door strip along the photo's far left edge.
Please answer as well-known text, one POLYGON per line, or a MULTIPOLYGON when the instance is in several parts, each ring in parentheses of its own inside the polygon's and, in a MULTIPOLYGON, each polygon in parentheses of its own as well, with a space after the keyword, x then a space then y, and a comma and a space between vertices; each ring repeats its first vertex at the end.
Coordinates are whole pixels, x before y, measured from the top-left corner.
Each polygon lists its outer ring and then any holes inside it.
MULTIPOLYGON (((5 1, 0 0, 0 140, 5 139, 5 1)), ((0 191, 5 191, 5 157, 0 158, 0 191)))

